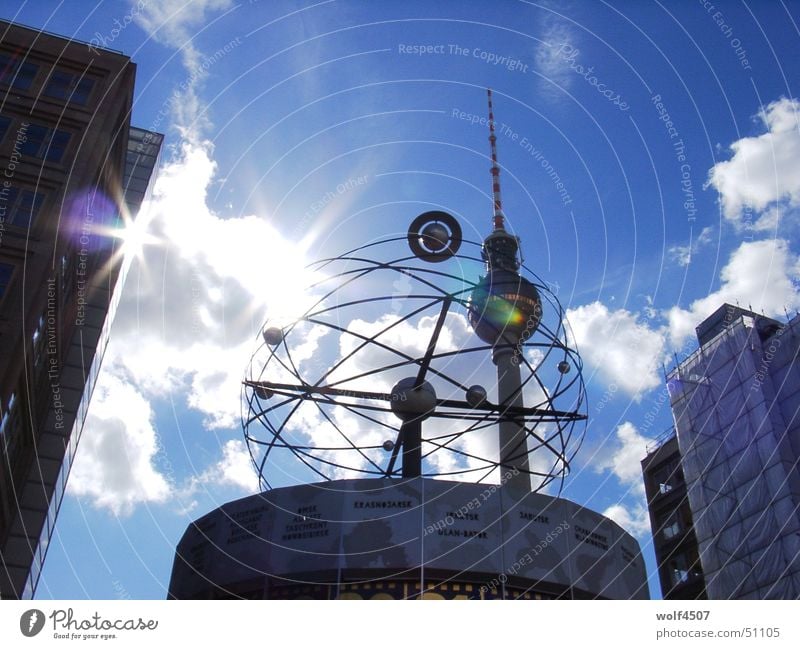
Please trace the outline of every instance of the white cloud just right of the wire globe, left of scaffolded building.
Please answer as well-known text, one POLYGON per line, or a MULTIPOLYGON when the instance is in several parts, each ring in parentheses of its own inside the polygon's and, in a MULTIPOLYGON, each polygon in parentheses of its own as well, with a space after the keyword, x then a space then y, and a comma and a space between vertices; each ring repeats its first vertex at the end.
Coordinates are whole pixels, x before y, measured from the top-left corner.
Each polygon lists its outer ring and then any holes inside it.
POLYGON ((661 384, 658 366, 664 335, 625 309, 593 302, 567 312, 578 350, 609 383, 638 398, 661 384))

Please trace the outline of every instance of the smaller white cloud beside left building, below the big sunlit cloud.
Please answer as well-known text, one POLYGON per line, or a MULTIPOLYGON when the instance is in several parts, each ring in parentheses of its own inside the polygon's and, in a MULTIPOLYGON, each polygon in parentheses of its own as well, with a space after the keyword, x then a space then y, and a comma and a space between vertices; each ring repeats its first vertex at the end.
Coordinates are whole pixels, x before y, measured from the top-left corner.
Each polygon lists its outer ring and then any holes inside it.
POLYGON ((130 514, 140 503, 165 502, 171 486, 154 465, 158 446, 150 404, 106 371, 92 397, 69 492, 116 515, 130 514))

